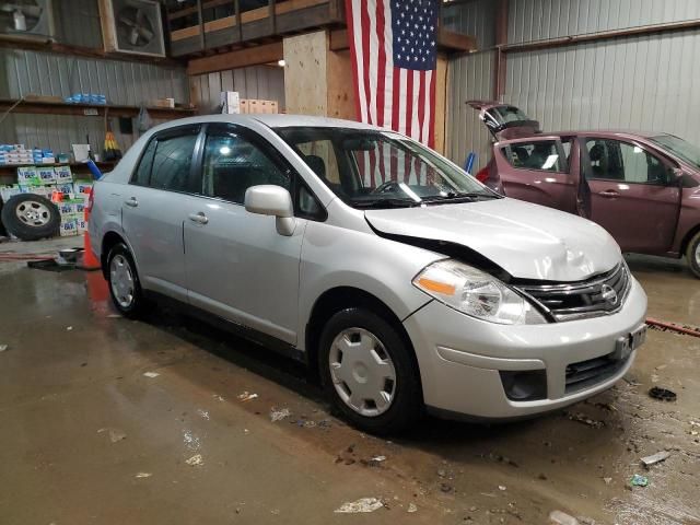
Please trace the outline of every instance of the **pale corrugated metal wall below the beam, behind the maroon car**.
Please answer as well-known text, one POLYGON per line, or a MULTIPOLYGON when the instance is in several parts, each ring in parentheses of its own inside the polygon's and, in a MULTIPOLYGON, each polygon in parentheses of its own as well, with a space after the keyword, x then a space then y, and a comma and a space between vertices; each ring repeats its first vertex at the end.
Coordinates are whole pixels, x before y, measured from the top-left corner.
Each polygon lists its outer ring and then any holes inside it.
POLYGON ((700 143, 700 32, 508 57, 505 100, 542 129, 667 131, 700 143))

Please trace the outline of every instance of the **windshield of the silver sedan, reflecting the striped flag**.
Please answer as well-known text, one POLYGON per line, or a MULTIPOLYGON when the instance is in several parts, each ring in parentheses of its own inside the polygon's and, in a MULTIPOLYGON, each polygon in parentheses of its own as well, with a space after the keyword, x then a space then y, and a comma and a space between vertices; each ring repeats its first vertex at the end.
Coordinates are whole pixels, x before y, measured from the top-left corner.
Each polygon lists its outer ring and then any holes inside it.
POLYGON ((390 131, 283 128, 278 133, 354 208, 500 198, 418 142, 390 131))

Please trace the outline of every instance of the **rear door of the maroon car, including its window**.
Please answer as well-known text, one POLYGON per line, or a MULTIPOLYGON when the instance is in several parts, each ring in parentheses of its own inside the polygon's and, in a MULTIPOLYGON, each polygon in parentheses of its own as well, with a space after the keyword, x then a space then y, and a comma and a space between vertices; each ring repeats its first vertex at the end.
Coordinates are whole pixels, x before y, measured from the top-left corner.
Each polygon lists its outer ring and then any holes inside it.
POLYGON ((573 143, 559 137, 497 142, 493 158, 504 194, 576 213, 579 162, 573 143))

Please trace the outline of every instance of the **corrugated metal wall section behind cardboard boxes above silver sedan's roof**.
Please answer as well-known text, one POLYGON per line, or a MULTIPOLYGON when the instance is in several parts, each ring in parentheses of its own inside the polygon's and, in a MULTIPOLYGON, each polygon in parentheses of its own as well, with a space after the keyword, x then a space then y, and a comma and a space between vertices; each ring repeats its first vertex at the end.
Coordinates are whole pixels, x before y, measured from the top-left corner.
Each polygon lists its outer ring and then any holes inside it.
POLYGON ((190 77, 192 103, 202 115, 218 113, 220 93, 237 91, 241 98, 277 101, 284 109, 284 68, 255 66, 190 77))

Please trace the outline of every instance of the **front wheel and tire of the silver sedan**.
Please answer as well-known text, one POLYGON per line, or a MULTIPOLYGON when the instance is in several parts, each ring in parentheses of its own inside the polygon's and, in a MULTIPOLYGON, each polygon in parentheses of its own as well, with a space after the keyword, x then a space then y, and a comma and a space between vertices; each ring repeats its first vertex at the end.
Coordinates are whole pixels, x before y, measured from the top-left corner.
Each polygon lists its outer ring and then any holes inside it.
POLYGON ((323 329, 319 370, 335 408, 354 427, 392 434, 423 410, 412 349, 395 326, 364 308, 335 314, 323 329))

